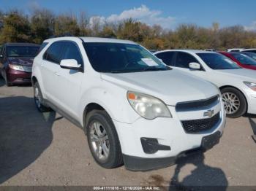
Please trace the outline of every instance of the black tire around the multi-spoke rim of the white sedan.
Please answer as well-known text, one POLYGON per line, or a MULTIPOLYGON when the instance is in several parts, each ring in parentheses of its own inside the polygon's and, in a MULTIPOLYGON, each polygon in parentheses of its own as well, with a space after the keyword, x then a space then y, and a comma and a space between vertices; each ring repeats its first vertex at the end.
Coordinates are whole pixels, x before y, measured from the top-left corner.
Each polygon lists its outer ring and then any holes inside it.
POLYGON ((246 109, 247 109, 246 98, 244 97, 243 93, 241 93, 240 90, 237 90, 236 88, 233 88, 233 87, 226 87, 221 90, 221 93, 222 94, 223 93, 234 93, 234 94, 236 94, 236 96, 238 97, 238 99, 240 101, 240 107, 239 107, 238 111, 234 114, 227 114, 227 117, 237 118, 237 117, 241 117, 243 114, 246 113, 246 109))

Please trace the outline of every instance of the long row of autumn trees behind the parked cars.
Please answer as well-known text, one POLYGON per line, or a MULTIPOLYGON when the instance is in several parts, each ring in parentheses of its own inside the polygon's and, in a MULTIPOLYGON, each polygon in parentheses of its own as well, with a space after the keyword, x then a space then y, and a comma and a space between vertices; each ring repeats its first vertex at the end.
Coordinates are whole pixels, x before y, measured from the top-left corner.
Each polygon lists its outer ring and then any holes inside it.
POLYGON ((0 43, 40 44, 52 36, 100 36, 129 39, 152 50, 256 47, 256 31, 245 31, 242 26, 220 28, 215 22, 210 28, 203 28, 195 24, 181 24, 171 31, 131 18, 120 23, 104 22, 101 17, 90 19, 85 12, 80 12, 77 17, 53 15, 47 9, 36 9, 29 16, 18 11, 0 11, 0 43))

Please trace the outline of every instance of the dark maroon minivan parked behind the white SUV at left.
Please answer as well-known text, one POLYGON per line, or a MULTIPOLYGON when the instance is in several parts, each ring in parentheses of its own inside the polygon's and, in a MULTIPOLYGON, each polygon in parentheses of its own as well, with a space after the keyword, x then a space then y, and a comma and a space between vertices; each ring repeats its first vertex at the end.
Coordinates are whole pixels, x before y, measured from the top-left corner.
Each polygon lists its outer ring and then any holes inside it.
POLYGON ((38 44, 7 43, 0 52, 0 74, 7 86, 31 83, 33 59, 38 44))

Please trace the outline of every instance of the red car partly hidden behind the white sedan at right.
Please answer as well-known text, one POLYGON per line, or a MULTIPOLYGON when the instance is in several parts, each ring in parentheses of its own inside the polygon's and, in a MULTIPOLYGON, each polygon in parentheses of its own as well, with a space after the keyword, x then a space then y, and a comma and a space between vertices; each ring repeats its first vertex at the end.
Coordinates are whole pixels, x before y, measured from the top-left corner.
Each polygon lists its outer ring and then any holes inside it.
POLYGON ((238 66, 241 66, 244 69, 256 70, 256 61, 253 58, 250 58, 248 55, 243 52, 219 52, 222 55, 227 56, 232 61, 236 62, 238 66))

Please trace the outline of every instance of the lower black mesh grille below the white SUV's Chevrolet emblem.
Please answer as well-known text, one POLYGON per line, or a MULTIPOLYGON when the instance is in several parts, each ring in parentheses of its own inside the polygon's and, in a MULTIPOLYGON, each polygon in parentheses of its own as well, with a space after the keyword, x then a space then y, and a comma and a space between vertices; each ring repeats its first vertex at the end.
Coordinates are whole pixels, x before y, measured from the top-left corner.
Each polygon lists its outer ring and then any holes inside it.
POLYGON ((202 120, 184 120, 181 121, 181 123, 187 133, 200 133, 214 128, 219 123, 219 120, 219 113, 217 113, 211 118, 202 120))

